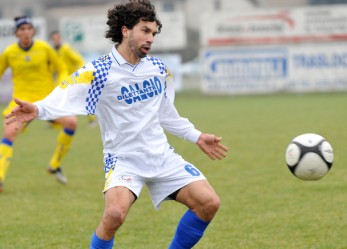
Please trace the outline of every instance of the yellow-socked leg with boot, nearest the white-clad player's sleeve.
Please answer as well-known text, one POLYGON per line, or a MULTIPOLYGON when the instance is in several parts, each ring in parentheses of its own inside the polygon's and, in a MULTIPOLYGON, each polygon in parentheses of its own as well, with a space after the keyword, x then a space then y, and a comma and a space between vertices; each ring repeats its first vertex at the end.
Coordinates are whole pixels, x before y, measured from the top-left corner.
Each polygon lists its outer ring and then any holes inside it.
POLYGON ((62 125, 63 129, 58 134, 56 149, 50 160, 48 171, 54 174, 59 182, 66 184, 67 178, 62 173, 61 162, 70 149, 77 127, 77 118, 75 116, 63 117, 54 122, 62 125))

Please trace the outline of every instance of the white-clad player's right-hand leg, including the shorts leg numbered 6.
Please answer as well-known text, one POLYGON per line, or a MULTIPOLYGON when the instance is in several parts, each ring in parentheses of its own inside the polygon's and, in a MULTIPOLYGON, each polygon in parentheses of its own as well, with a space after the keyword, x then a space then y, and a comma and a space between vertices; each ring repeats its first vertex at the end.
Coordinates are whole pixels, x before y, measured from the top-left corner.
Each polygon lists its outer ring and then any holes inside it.
POLYGON ((218 195, 202 172, 174 153, 172 148, 154 173, 155 178, 146 185, 155 207, 159 208, 164 200, 173 199, 189 208, 181 218, 169 248, 192 248, 220 206, 218 195))

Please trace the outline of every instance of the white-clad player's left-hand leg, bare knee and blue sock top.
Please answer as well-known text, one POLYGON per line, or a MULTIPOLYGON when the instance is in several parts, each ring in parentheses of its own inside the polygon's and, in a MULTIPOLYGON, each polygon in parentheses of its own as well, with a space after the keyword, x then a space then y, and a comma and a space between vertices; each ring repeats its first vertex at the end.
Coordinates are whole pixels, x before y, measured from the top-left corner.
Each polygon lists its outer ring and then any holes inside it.
POLYGON ((105 208, 99 226, 92 236, 90 248, 111 249, 117 229, 124 223, 131 205, 136 200, 126 187, 112 187, 105 192, 105 208))

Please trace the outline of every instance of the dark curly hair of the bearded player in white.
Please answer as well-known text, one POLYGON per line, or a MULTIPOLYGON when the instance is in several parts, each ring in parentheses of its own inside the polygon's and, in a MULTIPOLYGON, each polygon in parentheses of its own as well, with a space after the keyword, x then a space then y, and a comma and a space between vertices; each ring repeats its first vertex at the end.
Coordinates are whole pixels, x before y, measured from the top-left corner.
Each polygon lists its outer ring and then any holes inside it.
POLYGON ((148 0, 129 0, 127 3, 116 4, 108 10, 107 18, 108 28, 105 37, 114 43, 122 42, 121 28, 123 26, 132 29, 140 21, 156 22, 158 34, 162 28, 161 22, 157 19, 155 8, 148 0))

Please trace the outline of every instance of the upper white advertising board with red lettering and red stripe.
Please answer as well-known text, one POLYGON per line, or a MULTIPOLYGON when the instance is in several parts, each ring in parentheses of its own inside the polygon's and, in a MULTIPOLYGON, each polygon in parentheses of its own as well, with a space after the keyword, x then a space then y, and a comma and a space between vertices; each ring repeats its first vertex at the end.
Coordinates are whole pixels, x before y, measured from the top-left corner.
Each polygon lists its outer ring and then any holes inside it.
POLYGON ((205 13, 203 46, 347 40, 347 5, 205 13))

